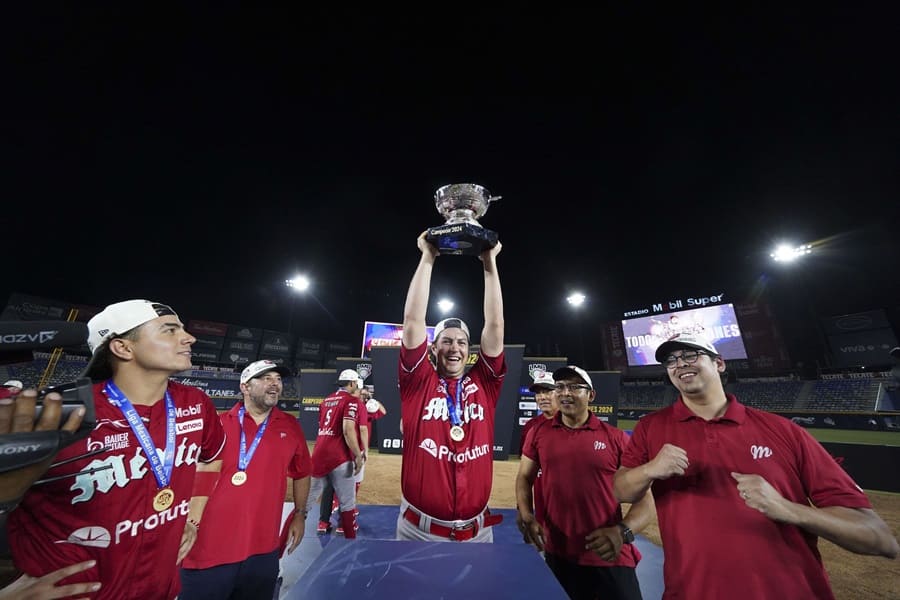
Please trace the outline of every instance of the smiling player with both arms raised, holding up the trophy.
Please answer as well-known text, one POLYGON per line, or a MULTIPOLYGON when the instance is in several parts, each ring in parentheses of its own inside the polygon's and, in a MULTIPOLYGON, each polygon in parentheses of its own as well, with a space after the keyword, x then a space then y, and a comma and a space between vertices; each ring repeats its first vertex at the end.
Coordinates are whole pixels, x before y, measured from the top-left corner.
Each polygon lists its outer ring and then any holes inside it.
MULTIPOLYGON (((492 542, 488 499, 493 479, 494 415, 506 360, 498 243, 484 251, 484 329, 478 360, 466 373, 469 328, 444 319, 429 346, 425 313, 437 248, 417 241, 421 257, 403 309, 400 405, 403 496, 397 539, 492 542), (429 361, 434 360, 434 364, 429 361)), ((451 259, 456 260, 456 259, 451 259)))

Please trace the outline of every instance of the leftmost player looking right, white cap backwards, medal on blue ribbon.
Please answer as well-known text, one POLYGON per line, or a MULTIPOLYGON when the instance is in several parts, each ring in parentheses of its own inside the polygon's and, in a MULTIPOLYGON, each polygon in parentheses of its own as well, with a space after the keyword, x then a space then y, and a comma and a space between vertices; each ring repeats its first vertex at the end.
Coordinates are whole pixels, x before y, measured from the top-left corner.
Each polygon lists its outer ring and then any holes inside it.
POLYGON ((73 581, 96 598, 174 598, 178 563, 196 540, 209 490, 198 462, 216 461, 225 433, 205 392, 169 380, 191 367, 196 339, 169 306, 128 300, 88 322, 97 426, 10 514, 13 560, 32 576, 93 559, 73 581), (190 514, 189 514, 190 513, 190 514))

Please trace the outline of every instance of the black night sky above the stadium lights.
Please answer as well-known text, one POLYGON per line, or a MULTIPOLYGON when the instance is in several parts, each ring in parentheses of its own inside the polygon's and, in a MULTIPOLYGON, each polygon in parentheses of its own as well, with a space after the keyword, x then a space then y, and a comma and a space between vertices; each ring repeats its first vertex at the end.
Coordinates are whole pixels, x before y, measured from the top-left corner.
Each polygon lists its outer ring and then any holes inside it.
MULTIPOLYGON (((544 353, 670 297, 764 288, 789 337, 809 303, 900 306, 896 15, 99 5, 4 19, 0 301, 356 342, 471 181, 503 196, 507 341, 544 353), (786 272, 779 240, 821 246, 786 272)), ((475 259, 440 258, 440 293, 480 327, 475 259)))

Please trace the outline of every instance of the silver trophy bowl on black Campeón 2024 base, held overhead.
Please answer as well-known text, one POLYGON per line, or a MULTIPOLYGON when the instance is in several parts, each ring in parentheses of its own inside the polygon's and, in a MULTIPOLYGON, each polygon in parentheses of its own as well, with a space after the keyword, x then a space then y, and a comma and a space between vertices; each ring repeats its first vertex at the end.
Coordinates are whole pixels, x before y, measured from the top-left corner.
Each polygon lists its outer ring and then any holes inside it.
POLYGON ((478 256, 497 245, 497 233, 485 229, 478 219, 487 212, 488 205, 502 196, 474 183, 445 185, 434 193, 434 205, 444 217, 443 225, 429 227, 425 235, 441 254, 478 256))

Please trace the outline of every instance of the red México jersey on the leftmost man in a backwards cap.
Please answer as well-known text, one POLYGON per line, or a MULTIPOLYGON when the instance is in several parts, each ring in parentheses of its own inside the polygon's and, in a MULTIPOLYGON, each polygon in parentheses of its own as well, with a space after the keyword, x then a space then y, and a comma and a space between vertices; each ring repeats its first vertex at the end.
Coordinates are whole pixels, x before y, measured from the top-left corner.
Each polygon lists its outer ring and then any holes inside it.
MULTIPOLYGON (((197 461, 217 458, 225 433, 216 408, 205 392, 169 382, 175 404, 175 462, 169 487, 174 503, 157 512, 153 498, 156 478, 140 442, 122 411, 94 385, 97 427, 86 439, 64 448, 62 461, 85 452, 101 454, 51 469, 45 477, 84 473, 32 486, 22 504, 9 515, 13 560, 33 576, 84 560, 93 569, 62 583, 100 581, 94 598, 174 598, 180 589, 175 560, 184 532, 197 461)), ((166 446, 166 403, 135 405, 153 439, 160 459, 166 446)))

